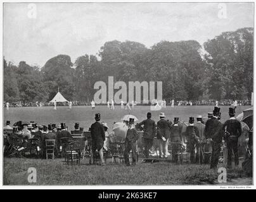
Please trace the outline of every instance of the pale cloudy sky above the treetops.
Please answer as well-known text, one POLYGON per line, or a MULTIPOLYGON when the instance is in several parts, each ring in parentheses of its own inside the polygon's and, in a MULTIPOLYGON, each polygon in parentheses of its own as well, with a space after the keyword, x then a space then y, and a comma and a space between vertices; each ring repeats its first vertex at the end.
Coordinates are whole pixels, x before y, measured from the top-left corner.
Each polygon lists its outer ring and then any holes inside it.
POLYGON ((99 52, 105 42, 131 40, 151 47, 161 40, 196 40, 253 27, 252 3, 214 4, 4 4, 4 57, 44 66, 67 54, 71 61, 99 52))

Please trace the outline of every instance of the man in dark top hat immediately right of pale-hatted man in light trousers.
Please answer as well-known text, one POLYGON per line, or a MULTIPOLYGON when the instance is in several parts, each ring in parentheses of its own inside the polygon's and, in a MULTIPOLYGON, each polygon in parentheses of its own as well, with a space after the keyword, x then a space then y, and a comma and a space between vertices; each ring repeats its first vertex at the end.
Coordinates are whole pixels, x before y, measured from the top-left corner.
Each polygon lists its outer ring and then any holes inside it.
POLYGON ((172 142, 172 162, 177 162, 177 151, 181 150, 182 126, 179 126, 179 117, 174 117, 174 124, 170 128, 170 141, 172 142))

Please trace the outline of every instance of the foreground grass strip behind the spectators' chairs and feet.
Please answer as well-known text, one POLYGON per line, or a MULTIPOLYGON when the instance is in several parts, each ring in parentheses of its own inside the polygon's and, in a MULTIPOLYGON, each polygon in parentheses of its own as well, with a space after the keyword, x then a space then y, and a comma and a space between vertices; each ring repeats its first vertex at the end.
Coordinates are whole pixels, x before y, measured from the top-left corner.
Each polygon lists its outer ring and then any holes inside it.
MULTIPOLYGON (((219 165, 221 167, 221 165, 219 165)), ((252 184, 252 179, 241 178, 241 170, 229 170, 227 183, 219 184, 217 169, 208 165, 176 165, 170 162, 89 165, 67 165, 63 159, 38 160, 4 158, 4 185, 236 185, 252 184), (37 182, 28 182, 28 169, 34 167, 37 182)))

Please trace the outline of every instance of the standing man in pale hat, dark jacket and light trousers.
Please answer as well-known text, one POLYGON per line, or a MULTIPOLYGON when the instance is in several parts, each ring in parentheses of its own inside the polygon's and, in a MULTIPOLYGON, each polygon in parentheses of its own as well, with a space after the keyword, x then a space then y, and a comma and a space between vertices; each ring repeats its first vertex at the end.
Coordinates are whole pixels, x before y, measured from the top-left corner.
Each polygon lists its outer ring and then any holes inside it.
POLYGON ((165 120, 165 114, 160 113, 160 121, 157 122, 157 139, 159 140, 160 158, 167 158, 170 135, 170 122, 165 120))

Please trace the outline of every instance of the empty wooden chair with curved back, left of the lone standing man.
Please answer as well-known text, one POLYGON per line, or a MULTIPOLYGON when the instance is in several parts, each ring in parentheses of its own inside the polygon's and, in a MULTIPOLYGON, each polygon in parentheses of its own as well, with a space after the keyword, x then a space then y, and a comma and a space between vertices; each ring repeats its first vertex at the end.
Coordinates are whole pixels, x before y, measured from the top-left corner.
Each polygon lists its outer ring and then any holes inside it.
POLYGON ((69 165, 69 163, 77 163, 80 165, 80 148, 79 148, 79 142, 72 141, 71 143, 68 143, 66 150, 65 150, 65 161, 69 165))

